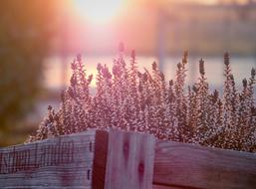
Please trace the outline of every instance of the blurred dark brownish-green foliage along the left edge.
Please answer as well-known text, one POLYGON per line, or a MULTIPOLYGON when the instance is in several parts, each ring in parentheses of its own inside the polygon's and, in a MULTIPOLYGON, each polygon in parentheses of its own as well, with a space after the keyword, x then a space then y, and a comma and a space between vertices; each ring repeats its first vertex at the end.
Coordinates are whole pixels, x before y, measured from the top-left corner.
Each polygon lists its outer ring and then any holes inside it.
POLYGON ((0 133, 28 112, 40 92, 43 59, 55 32, 55 4, 0 2, 0 133))

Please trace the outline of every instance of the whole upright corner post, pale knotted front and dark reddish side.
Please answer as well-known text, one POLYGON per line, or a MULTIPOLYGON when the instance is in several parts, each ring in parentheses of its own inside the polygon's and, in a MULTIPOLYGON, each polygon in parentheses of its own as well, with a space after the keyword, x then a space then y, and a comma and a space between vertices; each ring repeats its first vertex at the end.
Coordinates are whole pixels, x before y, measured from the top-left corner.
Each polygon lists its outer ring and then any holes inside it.
POLYGON ((154 144, 149 134, 97 131, 93 189, 151 189, 154 144))

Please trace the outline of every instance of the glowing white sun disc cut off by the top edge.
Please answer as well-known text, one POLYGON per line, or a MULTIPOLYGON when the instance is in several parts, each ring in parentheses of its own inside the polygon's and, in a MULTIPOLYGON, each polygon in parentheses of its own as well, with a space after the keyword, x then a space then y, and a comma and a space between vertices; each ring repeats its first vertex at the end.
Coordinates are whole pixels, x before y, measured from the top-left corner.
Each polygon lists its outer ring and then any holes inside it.
POLYGON ((112 21, 121 12, 125 0, 74 0, 78 14, 93 24, 112 21))

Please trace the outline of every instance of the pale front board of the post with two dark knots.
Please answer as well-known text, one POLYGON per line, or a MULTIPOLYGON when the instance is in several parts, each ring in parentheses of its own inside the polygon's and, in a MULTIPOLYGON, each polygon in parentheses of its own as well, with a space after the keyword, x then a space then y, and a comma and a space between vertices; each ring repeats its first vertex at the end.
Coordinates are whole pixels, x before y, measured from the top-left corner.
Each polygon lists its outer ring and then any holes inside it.
POLYGON ((151 189, 154 137, 111 130, 105 189, 151 189))

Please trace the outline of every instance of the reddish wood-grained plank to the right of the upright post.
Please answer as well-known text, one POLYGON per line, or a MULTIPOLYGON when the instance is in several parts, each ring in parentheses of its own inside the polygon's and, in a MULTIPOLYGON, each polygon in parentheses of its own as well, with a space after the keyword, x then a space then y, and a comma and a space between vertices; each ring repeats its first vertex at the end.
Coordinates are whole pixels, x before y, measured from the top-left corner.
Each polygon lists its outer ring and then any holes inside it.
POLYGON ((153 183, 181 188, 256 188, 256 154, 156 141, 153 183))

